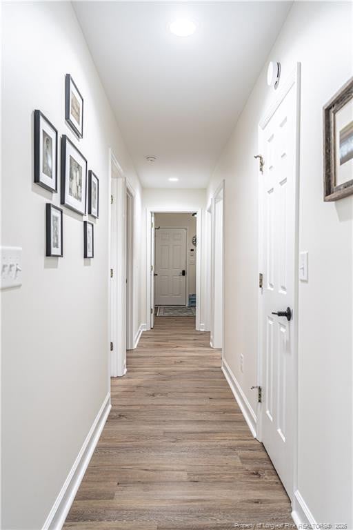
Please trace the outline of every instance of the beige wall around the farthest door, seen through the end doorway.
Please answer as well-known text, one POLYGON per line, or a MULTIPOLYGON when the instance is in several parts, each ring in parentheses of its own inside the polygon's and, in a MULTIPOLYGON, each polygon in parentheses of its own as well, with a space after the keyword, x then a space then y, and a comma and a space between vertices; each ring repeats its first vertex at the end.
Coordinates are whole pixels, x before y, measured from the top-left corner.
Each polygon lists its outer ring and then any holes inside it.
POLYGON ((192 244, 192 237, 196 235, 196 217, 190 213, 156 213, 154 215, 155 226, 161 228, 186 228, 186 262, 187 262, 187 297, 196 293, 196 251, 197 248, 192 244), (192 252, 191 252, 192 249, 192 252))

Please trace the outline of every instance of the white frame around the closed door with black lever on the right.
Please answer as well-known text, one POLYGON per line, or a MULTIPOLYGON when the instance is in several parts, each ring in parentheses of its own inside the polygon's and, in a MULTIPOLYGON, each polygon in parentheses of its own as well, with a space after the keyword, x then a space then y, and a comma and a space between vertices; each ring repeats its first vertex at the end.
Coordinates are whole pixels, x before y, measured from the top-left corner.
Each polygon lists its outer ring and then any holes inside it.
MULTIPOLYGON (((296 63, 295 68, 290 72, 290 75, 283 86, 276 93, 270 106, 268 106, 266 112, 264 112, 261 120, 259 121, 259 141, 258 144, 261 146, 261 131, 265 128, 270 121, 274 112, 288 94, 290 89, 294 87, 296 90, 296 109, 294 112, 295 120, 295 197, 294 197, 294 299, 292 308, 292 332, 293 332, 293 355, 294 355, 294 374, 293 374, 293 491, 292 491, 292 504, 295 501, 295 493, 298 488, 298 322, 299 322, 299 182, 300 182, 300 117, 301 117, 301 63, 296 63)), ((262 173, 259 172, 259 182, 261 183, 262 173)), ((258 230, 259 230, 259 241, 258 241, 258 256, 259 256, 259 273, 262 271, 263 264, 263 233, 262 233, 262 218, 263 218, 263 193, 262 187, 259 186, 259 219, 258 219, 258 230)), ((263 304, 262 304, 262 289, 259 288, 258 303, 258 355, 257 355, 257 384, 263 386, 263 304)), ((259 442, 262 442, 262 404, 257 404, 256 410, 256 438, 259 442)))

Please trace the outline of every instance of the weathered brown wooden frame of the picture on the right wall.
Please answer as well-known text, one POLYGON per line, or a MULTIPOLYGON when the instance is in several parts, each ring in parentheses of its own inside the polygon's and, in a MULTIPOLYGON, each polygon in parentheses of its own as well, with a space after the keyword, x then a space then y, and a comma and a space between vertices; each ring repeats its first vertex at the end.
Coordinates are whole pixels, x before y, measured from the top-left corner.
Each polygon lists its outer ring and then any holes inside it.
MULTIPOLYGON (((353 193, 353 175, 351 179, 341 184, 338 183, 337 178, 339 166, 336 158, 339 150, 337 150, 336 140, 340 139, 344 129, 337 130, 336 116, 347 105, 353 105, 353 77, 323 107, 323 199, 325 202, 343 199, 353 193)), ((352 137, 353 121, 348 126, 350 137, 352 137)), ((352 158, 352 153, 350 157, 352 158)))

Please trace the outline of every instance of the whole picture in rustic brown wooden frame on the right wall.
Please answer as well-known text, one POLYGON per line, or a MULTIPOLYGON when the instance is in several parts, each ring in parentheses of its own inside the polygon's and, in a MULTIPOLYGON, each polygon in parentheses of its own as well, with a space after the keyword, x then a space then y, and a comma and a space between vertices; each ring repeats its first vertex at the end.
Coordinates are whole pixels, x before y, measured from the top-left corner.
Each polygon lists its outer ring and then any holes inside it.
POLYGON ((323 108, 325 201, 353 193, 353 77, 323 108))

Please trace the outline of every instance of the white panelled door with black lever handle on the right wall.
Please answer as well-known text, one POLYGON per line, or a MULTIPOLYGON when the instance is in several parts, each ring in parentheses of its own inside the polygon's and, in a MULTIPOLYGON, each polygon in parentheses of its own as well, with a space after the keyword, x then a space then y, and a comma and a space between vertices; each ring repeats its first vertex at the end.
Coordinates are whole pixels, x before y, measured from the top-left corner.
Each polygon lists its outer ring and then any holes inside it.
MULTIPOLYGON (((259 174, 262 208, 259 218, 263 230, 261 441, 290 497, 296 421, 296 344, 292 320, 297 274, 296 79, 293 75, 293 83, 285 85, 278 104, 260 125, 259 138, 264 160, 263 175, 259 174)), ((295 311, 294 319, 296 322, 295 311)))

